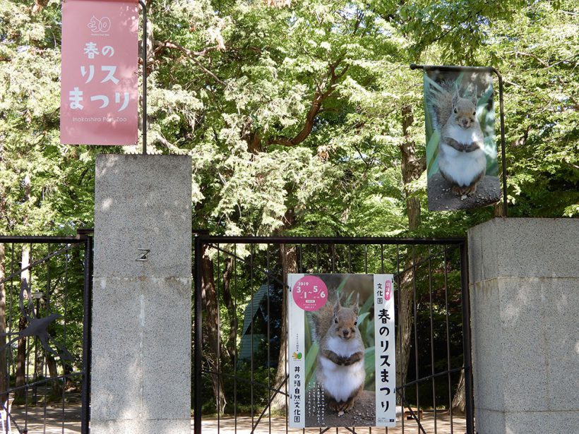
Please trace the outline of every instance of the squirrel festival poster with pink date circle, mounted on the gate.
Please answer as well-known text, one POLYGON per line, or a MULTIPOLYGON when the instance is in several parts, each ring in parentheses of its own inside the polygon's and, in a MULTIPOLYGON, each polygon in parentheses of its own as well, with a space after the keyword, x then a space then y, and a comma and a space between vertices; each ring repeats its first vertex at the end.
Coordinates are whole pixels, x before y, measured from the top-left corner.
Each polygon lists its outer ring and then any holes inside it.
POLYGON ((395 426, 393 275, 287 280, 290 427, 395 426))

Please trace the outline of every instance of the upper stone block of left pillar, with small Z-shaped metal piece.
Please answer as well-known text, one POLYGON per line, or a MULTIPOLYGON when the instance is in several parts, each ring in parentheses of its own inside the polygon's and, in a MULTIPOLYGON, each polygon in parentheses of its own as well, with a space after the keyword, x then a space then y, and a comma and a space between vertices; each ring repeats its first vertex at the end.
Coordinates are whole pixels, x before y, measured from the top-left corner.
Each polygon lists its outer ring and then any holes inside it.
POLYGON ((98 155, 95 277, 186 277, 190 250, 191 157, 98 155))

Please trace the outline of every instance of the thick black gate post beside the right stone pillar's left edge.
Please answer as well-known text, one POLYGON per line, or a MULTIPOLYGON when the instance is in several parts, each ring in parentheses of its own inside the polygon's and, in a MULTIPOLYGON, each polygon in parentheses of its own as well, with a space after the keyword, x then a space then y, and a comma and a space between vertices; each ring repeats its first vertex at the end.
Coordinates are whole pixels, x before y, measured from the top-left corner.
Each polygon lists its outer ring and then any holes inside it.
POLYGON ((460 244, 460 289, 462 292, 462 351, 465 360, 465 413, 467 434, 474 434, 474 398, 472 396, 472 359, 470 355, 470 294, 468 290, 468 253, 466 243, 460 244))

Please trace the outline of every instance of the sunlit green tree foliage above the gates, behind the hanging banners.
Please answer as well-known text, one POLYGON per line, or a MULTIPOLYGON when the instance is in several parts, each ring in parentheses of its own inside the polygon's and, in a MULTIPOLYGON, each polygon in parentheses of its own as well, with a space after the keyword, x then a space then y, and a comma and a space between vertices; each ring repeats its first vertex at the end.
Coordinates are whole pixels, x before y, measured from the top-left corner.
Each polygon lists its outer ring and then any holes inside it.
MULTIPOLYGON (((462 235, 491 218, 427 211, 410 63, 498 68, 510 215, 579 214, 573 1, 148 5, 148 152, 193 156, 193 227, 462 235)), ((59 1, 1 1, 2 234, 92 227, 95 155, 140 152, 59 144, 60 37, 59 1)))

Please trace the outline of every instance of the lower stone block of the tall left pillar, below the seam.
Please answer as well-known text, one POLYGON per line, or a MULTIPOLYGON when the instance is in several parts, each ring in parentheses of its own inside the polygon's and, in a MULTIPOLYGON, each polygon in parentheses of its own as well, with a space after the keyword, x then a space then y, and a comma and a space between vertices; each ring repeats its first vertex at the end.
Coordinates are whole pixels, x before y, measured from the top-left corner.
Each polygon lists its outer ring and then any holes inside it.
POLYGON ((191 279, 95 279, 93 292, 92 419, 189 418, 191 279))

